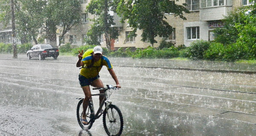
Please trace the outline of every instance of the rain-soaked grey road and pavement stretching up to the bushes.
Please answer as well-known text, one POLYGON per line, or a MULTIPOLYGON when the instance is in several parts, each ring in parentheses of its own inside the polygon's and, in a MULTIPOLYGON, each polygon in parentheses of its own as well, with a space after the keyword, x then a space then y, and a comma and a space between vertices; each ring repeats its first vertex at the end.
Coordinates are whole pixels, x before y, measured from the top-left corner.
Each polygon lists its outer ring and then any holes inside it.
MULTIPOLYGON (((106 136, 102 117, 88 132, 76 121, 76 98, 83 96, 76 57, 11 57, 0 54, 0 136, 106 136)), ((173 69, 213 69, 214 62, 110 60, 122 85, 111 96, 124 117, 122 136, 255 136, 256 74, 173 69)), ((218 65, 255 70, 254 65, 218 65)), ((114 84, 105 67, 100 76, 114 84)))

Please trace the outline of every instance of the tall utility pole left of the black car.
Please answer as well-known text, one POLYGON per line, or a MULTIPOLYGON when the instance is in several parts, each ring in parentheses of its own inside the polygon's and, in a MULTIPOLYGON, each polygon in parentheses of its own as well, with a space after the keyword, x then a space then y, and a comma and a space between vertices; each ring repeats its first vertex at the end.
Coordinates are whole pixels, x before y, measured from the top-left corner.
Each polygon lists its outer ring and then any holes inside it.
POLYGON ((17 59, 17 44, 16 44, 16 32, 15 32, 15 13, 14 13, 14 3, 11 0, 11 9, 12 9, 12 48, 13 48, 13 58, 17 59))

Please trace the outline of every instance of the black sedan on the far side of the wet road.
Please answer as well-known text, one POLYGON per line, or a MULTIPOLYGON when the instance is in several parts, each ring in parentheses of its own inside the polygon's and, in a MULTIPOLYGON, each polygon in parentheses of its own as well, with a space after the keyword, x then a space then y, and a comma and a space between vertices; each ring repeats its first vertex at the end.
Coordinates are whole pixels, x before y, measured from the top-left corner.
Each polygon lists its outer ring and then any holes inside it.
POLYGON ((53 57, 54 59, 57 59, 58 55, 58 48, 52 48, 52 45, 49 44, 37 44, 27 51, 29 59, 32 57, 38 57, 39 60, 43 60, 46 57, 53 57))

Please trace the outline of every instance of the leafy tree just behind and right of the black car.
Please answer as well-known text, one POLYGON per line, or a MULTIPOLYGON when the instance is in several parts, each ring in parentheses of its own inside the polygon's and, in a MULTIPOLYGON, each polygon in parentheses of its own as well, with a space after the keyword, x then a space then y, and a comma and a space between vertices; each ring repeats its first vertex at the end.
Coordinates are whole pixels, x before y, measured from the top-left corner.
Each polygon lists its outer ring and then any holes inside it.
POLYGON ((81 4, 79 0, 47 0, 44 12, 44 37, 56 46, 57 26, 63 27, 61 39, 73 26, 80 23, 81 4))

